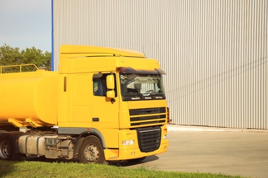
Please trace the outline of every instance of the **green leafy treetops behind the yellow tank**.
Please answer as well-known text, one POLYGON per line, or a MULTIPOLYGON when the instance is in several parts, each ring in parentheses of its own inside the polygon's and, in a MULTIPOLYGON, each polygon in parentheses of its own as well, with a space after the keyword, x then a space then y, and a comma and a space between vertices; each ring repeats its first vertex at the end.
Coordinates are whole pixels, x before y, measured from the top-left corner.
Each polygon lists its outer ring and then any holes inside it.
MULTIPOLYGON (((43 53, 40 49, 35 47, 26 48, 19 51, 19 48, 12 48, 7 44, 0 47, 0 66, 10 66, 17 64, 35 64, 37 67, 45 67, 51 70, 51 53, 46 51, 43 53)), ((35 68, 29 66, 23 67, 23 71, 33 71, 35 68)), ((19 72, 19 67, 1 67, 2 73, 19 72)))

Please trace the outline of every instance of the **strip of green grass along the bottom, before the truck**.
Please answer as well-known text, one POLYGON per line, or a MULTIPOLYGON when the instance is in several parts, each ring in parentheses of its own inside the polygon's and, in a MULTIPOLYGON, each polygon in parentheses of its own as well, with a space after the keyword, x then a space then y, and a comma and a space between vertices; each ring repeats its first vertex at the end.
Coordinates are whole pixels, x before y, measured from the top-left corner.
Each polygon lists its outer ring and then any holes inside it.
POLYGON ((76 162, 0 161, 0 177, 232 177, 210 173, 179 173, 76 162))

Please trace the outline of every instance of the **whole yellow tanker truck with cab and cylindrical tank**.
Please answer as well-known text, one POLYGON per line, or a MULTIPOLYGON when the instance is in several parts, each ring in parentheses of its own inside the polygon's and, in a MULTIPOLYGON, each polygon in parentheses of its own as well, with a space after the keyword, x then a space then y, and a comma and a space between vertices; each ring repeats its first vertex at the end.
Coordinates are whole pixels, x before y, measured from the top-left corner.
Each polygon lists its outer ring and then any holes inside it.
POLYGON ((159 62, 126 49, 63 45, 58 71, 1 66, 0 160, 141 161, 168 149, 159 62), (7 73, 8 68, 17 73, 7 73))

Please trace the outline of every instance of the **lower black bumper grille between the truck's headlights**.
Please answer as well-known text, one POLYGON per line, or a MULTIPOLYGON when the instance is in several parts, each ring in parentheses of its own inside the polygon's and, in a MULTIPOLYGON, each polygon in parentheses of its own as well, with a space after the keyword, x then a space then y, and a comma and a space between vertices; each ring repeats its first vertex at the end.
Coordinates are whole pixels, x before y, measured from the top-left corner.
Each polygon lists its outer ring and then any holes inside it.
POLYGON ((147 153, 159 149, 161 142, 160 127, 148 127, 136 129, 136 131, 140 151, 147 153))

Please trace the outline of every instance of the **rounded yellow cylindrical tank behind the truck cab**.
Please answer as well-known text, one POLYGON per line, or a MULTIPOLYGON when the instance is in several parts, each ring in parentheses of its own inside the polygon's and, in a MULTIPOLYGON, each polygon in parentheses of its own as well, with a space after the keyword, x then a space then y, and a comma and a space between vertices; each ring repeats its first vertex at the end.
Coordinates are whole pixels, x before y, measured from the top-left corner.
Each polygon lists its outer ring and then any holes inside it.
POLYGON ((57 88, 58 72, 1 73, 0 125, 56 125, 57 88))

